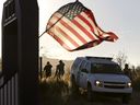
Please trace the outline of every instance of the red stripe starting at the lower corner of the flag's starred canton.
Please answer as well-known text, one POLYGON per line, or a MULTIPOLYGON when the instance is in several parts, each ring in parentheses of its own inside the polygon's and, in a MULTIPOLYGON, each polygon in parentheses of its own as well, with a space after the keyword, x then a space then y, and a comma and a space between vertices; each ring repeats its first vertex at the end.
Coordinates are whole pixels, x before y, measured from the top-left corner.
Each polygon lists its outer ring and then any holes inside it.
MULTIPOLYGON (((95 39, 91 33, 88 32, 86 28, 84 28, 77 19, 72 20, 72 23, 74 23, 89 38, 95 39)), ((86 23, 85 23, 86 24, 86 23)))

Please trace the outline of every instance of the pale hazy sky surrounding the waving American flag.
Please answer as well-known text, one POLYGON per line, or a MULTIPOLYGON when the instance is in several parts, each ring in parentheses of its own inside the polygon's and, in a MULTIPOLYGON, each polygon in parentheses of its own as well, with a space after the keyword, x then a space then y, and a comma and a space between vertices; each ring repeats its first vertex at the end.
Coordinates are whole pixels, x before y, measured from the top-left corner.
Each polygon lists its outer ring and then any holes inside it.
MULTIPOLYGON (((2 14, 3 1, 4 0, 0 0, 0 18, 2 14)), ((60 7, 74 1, 75 0, 38 0, 39 35, 45 31, 46 24, 55 11, 60 7)), ((39 55, 49 58, 71 60, 79 56, 113 57, 121 51, 128 57, 127 61, 129 63, 135 66, 140 65, 140 12, 138 12, 140 10, 140 0, 79 1, 92 10, 95 20, 102 30, 105 32, 114 32, 119 39, 115 43, 103 42, 95 47, 80 51, 67 51, 51 36, 44 34, 39 38, 39 55)))

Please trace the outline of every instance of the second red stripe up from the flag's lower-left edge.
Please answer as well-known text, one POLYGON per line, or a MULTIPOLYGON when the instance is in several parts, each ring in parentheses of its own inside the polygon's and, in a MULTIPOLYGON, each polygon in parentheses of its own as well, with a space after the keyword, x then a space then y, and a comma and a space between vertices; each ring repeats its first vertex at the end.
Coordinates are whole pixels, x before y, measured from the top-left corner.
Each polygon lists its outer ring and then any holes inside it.
POLYGON ((62 33, 62 35, 68 39, 70 40, 70 43, 75 46, 75 47, 79 47, 80 45, 78 43, 75 43, 71 37, 70 35, 68 35, 66 32, 63 32, 60 27, 57 28, 60 33, 62 33))

